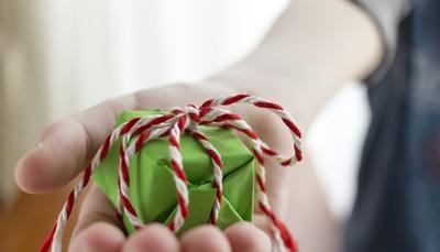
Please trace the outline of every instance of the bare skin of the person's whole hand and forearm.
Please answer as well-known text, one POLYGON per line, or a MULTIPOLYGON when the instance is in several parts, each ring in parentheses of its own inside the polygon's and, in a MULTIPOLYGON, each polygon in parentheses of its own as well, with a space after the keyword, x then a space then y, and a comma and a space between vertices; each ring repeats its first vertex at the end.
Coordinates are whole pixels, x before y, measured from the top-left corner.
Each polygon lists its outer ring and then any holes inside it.
MULTIPOLYGON (((307 132, 332 94, 345 80, 369 75, 381 61, 382 52, 374 23, 350 2, 296 0, 253 53, 210 79, 110 99, 48 125, 36 147, 18 163, 16 183, 32 194, 52 191, 69 183, 111 132, 119 113, 129 109, 167 109, 248 92, 282 103, 307 132)), ((292 152, 290 143, 285 141, 288 132, 276 118, 241 106, 237 111, 274 149, 285 154, 292 152)), ((282 219, 287 218, 302 251, 337 250, 337 242, 328 239, 338 238, 333 233, 337 228, 329 224, 332 222, 310 158, 302 163, 295 172, 267 164, 271 204, 282 219), (304 201, 305 197, 308 200, 304 201)), ((271 250, 271 237, 264 232, 266 222, 258 209, 255 226, 243 222, 224 231, 202 226, 180 239, 161 224, 148 224, 128 238, 113 211, 106 196, 92 186, 81 206, 69 251, 271 250)))

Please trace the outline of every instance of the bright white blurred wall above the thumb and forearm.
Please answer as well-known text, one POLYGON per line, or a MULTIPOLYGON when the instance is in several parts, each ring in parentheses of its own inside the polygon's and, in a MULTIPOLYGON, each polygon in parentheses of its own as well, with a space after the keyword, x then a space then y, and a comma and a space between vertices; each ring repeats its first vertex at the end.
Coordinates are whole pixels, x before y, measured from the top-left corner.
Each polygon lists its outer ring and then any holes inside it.
POLYGON ((287 2, 40 1, 51 114, 221 70, 252 51, 287 2))

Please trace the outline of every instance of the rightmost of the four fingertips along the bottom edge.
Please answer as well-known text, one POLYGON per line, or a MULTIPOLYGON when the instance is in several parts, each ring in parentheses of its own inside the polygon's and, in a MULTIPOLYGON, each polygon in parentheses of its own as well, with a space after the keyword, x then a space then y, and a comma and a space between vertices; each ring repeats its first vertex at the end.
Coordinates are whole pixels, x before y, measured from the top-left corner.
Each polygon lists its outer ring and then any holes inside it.
POLYGON ((270 252, 271 241, 266 233, 249 222, 239 222, 224 230, 232 251, 270 252))

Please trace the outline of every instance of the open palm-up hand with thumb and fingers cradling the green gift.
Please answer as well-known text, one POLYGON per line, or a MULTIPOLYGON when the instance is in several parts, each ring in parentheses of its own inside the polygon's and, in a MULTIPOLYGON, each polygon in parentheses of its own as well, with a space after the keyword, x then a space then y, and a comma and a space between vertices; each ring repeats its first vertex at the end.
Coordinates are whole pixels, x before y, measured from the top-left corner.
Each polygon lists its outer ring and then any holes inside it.
MULTIPOLYGON (((235 92, 238 91, 220 85, 173 85, 108 100, 47 127, 37 146, 19 162, 16 182, 25 191, 46 193, 74 179, 112 131, 123 110, 167 109, 235 92)), ((260 120, 266 116, 258 117, 252 116, 251 124, 266 142, 275 143, 275 149, 283 149, 283 144, 276 141, 286 139, 277 135, 283 130, 267 129, 279 123, 260 120)), ((290 146, 289 141, 280 142, 286 142, 284 149, 290 146)), ((283 180, 280 173, 284 172, 276 165, 273 166, 268 167, 267 174, 268 194, 274 198, 274 209, 282 211, 285 206, 285 190, 279 182, 283 180)), ((114 207, 97 187, 92 187, 81 206, 69 251, 270 251, 270 235, 261 231, 264 230, 265 222, 260 222, 260 228, 241 222, 224 231, 204 226, 188 231, 179 240, 165 226, 148 224, 127 238, 123 228, 116 220, 114 207)))

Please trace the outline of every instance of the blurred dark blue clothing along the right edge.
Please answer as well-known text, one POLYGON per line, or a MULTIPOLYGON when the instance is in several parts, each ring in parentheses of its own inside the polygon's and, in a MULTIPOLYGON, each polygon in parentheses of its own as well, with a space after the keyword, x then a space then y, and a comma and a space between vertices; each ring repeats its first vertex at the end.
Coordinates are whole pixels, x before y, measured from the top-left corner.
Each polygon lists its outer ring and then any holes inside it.
POLYGON ((369 87, 373 120, 344 251, 439 252, 440 1, 415 2, 391 68, 369 87))

